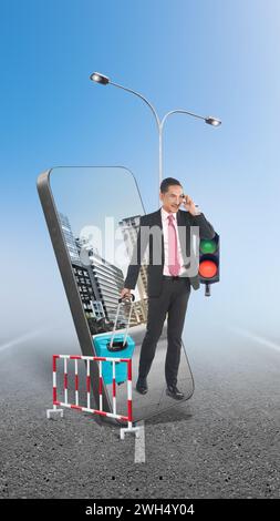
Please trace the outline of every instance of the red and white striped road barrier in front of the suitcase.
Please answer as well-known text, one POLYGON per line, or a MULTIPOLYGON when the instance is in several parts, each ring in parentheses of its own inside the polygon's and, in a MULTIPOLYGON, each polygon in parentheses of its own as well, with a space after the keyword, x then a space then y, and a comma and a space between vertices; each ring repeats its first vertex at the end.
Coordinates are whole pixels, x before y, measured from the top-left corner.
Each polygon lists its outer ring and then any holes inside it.
POLYGON ((69 409, 75 409, 83 412, 91 412, 100 416, 107 416, 111 418, 117 418, 118 420, 127 421, 128 427, 121 429, 121 439, 124 439, 125 432, 135 432, 138 438, 139 427, 133 427, 133 415, 132 415, 132 359, 131 358, 113 358, 113 357, 96 357, 96 356, 73 356, 73 355, 53 355, 52 357, 52 370, 53 370, 53 408, 46 410, 46 417, 50 418, 52 412, 59 412, 63 417, 63 409, 58 407, 68 407, 69 409), (56 360, 58 358, 64 359, 64 401, 58 400, 58 387, 56 387, 56 360), (68 386, 68 360, 75 361, 75 403, 69 403, 69 386, 68 386), (77 360, 86 360, 86 407, 80 406, 79 402, 79 372, 77 372, 77 360), (100 381, 98 381, 98 396, 100 396, 100 409, 91 408, 91 378, 90 378, 90 362, 91 360, 98 361, 100 369, 100 381), (113 367, 113 412, 106 412, 103 410, 102 403, 102 362, 112 361, 113 367), (115 381, 115 364, 125 361, 127 364, 127 416, 117 415, 116 412, 116 381, 115 381))

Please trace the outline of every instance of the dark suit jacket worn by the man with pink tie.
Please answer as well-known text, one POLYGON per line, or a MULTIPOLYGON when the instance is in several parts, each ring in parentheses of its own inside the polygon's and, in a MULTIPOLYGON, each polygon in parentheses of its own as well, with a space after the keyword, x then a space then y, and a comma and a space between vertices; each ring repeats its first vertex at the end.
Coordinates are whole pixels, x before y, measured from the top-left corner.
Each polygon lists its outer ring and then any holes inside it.
MULTIPOLYGON (((176 214, 178 234, 180 238, 182 251, 184 245, 186 245, 186 255, 190 257, 190 251, 194 252, 191 245, 190 236, 190 226, 199 226, 199 238, 214 238, 215 229, 211 224, 206 219, 203 213, 200 215, 191 215, 189 212, 184 210, 178 210, 176 214)), ((137 235, 137 241, 133 251, 133 264, 129 264, 127 269, 127 275, 124 282, 124 287, 134 289, 138 278, 138 273, 142 264, 142 258, 144 256, 146 246, 148 244, 148 264, 147 264, 147 294, 148 297, 158 296, 162 289, 163 284, 163 269, 164 269, 164 233, 163 233, 163 223, 162 223, 162 212, 160 208, 151 214, 145 214, 141 216, 139 219, 139 231, 137 235), (160 252, 160 244, 158 243, 157 237, 153 236, 153 232, 149 233, 152 226, 159 226, 160 228, 160 238, 162 238, 162 263, 153 264, 153 249, 158 247, 160 252), (141 248, 142 242, 142 248, 141 248)), ((189 267, 185 264, 186 267, 189 267)), ((189 276, 189 282, 194 289, 198 289, 200 286, 199 275, 189 276)))

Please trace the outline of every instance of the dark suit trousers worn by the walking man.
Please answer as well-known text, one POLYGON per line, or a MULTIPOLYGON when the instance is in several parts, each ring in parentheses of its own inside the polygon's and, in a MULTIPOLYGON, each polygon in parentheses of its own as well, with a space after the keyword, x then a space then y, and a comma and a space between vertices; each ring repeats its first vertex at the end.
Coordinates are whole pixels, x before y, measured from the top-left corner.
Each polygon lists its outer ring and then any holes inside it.
POLYGON ((157 341, 162 335, 167 316, 167 353, 165 358, 165 379, 167 385, 177 385, 180 361, 182 333, 190 295, 187 277, 163 278, 159 296, 148 297, 147 329, 141 347, 138 376, 146 378, 151 369, 157 341))

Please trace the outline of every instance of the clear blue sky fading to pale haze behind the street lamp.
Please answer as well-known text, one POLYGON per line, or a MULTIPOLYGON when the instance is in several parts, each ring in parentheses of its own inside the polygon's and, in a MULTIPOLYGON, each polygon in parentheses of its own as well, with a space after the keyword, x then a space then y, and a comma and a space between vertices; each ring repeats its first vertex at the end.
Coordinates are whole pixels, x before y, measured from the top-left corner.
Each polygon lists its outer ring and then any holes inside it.
POLYGON ((40 172, 124 165, 146 212, 158 207, 153 116, 135 96, 90 82, 96 70, 143 93, 159 116, 186 109, 222 120, 211 129, 175 115, 164 135, 164 176, 183 182, 221 236, 221 282, 210 304, 196 292, 190 314, 230 316, 279 339, 279 21, 277 0, 2 0, 7 325, 15 297, 24 298, 19 331, 66 306, 35 188, 40 172))

